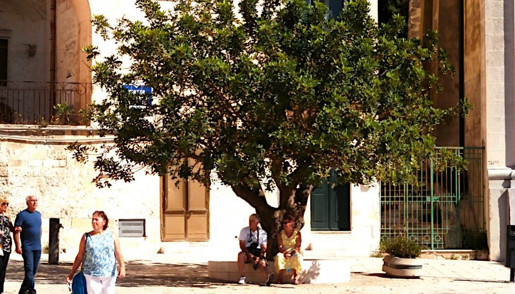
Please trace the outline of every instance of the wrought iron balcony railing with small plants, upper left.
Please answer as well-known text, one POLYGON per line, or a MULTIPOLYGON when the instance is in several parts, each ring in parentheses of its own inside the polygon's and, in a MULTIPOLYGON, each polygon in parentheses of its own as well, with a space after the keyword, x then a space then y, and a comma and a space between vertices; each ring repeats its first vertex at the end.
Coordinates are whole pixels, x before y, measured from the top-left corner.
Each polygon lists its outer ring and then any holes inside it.
POLYGON ((87 125, 91 83, 0 80, 0 124, 87 125))

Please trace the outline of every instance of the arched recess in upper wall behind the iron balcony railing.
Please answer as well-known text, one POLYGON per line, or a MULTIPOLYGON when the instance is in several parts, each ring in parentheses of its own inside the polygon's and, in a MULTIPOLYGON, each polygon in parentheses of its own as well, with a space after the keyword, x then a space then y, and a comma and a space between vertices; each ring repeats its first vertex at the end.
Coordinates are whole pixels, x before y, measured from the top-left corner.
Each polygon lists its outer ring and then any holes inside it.
POLYGON ((82 124, 91 73, 88 0, 0 0, 0 124, 82 124))

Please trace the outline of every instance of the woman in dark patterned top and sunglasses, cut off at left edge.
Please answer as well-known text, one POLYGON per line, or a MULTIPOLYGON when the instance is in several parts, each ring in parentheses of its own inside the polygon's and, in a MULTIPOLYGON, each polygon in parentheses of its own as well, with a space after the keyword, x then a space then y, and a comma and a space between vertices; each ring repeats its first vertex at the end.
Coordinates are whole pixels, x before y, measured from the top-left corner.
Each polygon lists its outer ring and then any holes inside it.
POLYGON ((4 294, 5 272, 9 256, 11 255, 12 238, 11 232, 13 231, 11 217, 7 208, 9 201, 7 197, 0 197, 0 244, 2 245, 3 254, 0 256, 0 293, 4 294))

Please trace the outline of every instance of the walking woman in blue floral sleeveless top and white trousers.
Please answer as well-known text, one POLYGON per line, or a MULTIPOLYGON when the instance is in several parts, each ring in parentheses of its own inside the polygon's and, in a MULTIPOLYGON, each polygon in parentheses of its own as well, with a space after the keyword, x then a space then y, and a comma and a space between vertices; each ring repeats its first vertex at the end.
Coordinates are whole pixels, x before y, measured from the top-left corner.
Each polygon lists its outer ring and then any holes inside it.
POLYGON ((66 282, 72 280, 75 271, 82 263, 88 294, 114 294, 116 283, 116 263, 118 278, 125 277, 125 263, 118 237, 107 231, 109 219, 105 212, 95 211, 91 217, 93 231, 85 233, 80 239, 79 253, 75 257, 66 282))

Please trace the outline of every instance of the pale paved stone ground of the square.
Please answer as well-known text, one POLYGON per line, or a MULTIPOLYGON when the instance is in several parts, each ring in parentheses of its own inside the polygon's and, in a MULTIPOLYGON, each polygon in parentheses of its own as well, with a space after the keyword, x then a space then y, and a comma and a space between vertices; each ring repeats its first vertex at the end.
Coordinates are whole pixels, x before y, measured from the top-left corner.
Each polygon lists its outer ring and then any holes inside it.
MULTIPOLYGON (((515 293, 515 283, 508 283, 509 268, 495 262, 424 260, 421 279, 391 279, 381 271, 381 258, 357 258, 353 262, 351 282, 328 285, 236 285, 208 279, 205 262, 184 263, 184 256, 145 256, 145 260, 127 263, 127 278, 116 284, 116 293, 515 293)), ((71 264, 48 265, 43 256, 37 275, 40 294, 67 294, 64 277, 71 264)), ((338 274, 338 273, 335 273, 338 274)), ((23 279, 23 263, 14 255, 9 262, 6 294, 15 294, 23 279)))

